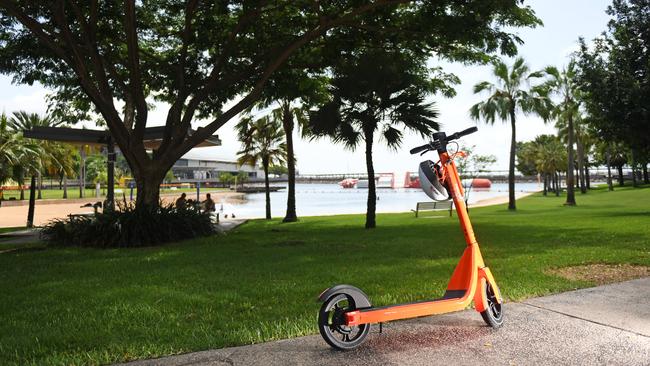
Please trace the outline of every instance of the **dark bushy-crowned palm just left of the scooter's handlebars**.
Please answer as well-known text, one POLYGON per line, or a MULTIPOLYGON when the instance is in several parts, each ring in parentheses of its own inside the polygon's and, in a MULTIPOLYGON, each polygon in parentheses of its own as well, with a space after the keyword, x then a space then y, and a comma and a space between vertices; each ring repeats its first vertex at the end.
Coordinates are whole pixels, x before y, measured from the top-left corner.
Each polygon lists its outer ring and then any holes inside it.
MULTIPOLYGON (((332 100, 312 115, 314 136, 329 136, 355 150, 365 145, 368 172, 367 229, 376 226, 375 169, 372 149, 375 137, 397 149, 407 129, 428 137, 438 129, 437 112, 424 102, 437 86, 428 77, 424 60, 400 51, 368 48, 343 58, 333 70, 332 100), (379 135, 379 136, 377 136, 379 135)), ((434 79, 440 81, 440 79, 434 79)), ((457 82, 452 78, 452 81, 457 82)), ((444 92, 453 89, 444 85, 444 92)))

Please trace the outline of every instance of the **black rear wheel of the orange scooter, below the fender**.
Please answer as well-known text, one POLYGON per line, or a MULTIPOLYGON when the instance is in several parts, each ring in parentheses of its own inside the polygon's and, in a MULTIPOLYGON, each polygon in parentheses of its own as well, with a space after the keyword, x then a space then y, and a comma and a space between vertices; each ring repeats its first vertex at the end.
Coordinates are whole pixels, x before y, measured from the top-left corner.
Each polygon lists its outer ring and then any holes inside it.
POLYGON ((323 303, 318 312, 318 330, 327 344, 338 350, 349 351, 366 340, 370 324, 343 324, 343 314, 355 309, 354 300, 345 294, 334 294, 323 303))

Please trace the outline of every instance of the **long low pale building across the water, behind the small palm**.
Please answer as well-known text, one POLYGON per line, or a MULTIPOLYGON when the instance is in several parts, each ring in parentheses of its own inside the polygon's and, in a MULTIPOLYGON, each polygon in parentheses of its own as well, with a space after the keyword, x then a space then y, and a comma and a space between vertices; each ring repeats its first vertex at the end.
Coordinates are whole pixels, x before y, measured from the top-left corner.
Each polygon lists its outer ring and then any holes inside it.
POLYGON ((198 159, 185 155, 172 167, 174 176, 180 180, 216 180, 221 173, 236 175, 241 171, 248 173, 251 179, 264 177, 264 172, 255 166, 239 165, 236 161, 225 159, 198 159))

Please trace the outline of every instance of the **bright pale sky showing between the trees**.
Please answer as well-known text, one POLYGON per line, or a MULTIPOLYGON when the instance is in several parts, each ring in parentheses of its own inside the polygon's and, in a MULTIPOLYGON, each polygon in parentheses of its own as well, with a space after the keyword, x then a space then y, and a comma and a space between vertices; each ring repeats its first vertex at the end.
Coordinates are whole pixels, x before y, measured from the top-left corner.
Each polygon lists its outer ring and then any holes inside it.
MULTIPOLYGON (((531 70, 539 70, 548 65, 563 67, 569 60, 571 52, 577 50, 578 37, 591 40, 606 28, 609 17, 605 9, 609 0, 534 0, 526 1, 544 26, 537 28, 518 29, 516 33, 524 41, 519 47, 519 55, 530 66, 531 70)), ((506 60, 509 64, 512 59, 506 60)), ((483 80, 492 81, 490 66, 465 66, 458 63, 431 60, 431 64, 442 66, 444 71, 456 74, 461 84, 456 87, 457 95, 446 99, 442 96, 432 96, 430 101, 435 103, 439 111, 439 122, 442 130, 448 133, 456 132, 471 126, 478 126, 479 131, 463 139, 468 146, 475 146, 477 154, 492 154, 497 162, 490 169, 507 170, 510 149, 511 130, 508 124, 496 122, 486 125, 475 122, 469 117, 469 108, 485 98, 485 95, 475 95, 472 87, 483 80)), ((0 75, 0 111, 12 113, 18 110, 45 113, 47 110, 45 96, 47 90, 40 85, 14 85, 11 78, 0 75)), ((167 108, 157 105, 149 113, 149 126, 160 125, 165 120, 167 108)), ((222 146, 194 149, 187 156, 205 159, 235 160, 240 148, 233 126, 237 123, 234 118, 225 124, 217 134, 222 140, 222 146)), ((197 121, 194 126, 204 122, 197 121)), ((88 128, 93 128, 85 123, 88 128)), ((519 115, 517 119, 517 141, 529 141, 539 134, 554 134, 551 124, 545 125, 541 119, 534 116, 519 115)), ((363 148, 352 152, 340 145, 333 145, 329 140, 317 141, 294 138, 297 168, 301 174, 321 173, 361 173, 365 172, 363 148)), ((415 171, 423 158, 411 156, 411 147, 422 145, 425 141, 418 135, 406 135, 401 148, 397 151, 383 146, 381 141, 375 144, 373 160, 375 171, 378 173, 396 173, 401 177, 406 171, 415 171)))

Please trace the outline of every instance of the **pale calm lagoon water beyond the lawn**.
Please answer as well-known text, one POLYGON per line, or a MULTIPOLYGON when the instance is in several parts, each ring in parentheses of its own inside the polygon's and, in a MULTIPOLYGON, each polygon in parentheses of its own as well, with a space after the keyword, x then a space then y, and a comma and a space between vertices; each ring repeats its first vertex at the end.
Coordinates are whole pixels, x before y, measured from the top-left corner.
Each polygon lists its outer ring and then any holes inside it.
MULTIPOLYGON (((277 185, 277 184, 274 184, 277 185)), ((517 192, 535 192, 541 187, 537 183, 517 183, 517 192)), ((296 210, 298 216, 355 214, 366 212, 367 189, 344 189, 338 184, 296 184, 296 210)), ((377 212, 407 212, 415 209, 417 202, 429 201, 420 189, 377 189, 377 212)), ((492 184, 489 190, 475 190, 469 194, 470 206, 481 200, 507 197, 508 185, 492 184)), ((223 213, 235 214, 238 218, 264 217, 264 193, 247 194, 245 200, 221 199, 217 210, 223 205, 223 213)), ((287 207, 286 188, 271 193, 273 217, 284 217, 287 207)))

